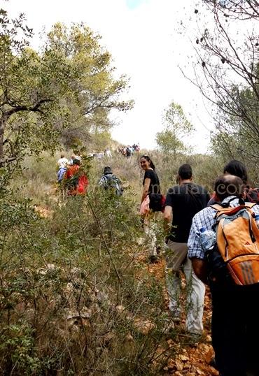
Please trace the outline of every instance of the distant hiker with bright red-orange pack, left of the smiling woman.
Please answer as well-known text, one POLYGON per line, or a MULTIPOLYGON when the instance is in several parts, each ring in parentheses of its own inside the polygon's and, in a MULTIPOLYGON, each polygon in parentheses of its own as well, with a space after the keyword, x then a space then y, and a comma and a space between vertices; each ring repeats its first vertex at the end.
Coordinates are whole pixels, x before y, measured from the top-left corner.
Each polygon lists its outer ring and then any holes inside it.
POLYGON ((77 194, 85 194, 88 179, 83 171, 80 171, 79 159, 73 159, 73 165, 67 169, 64 179, 66 180, 66 187, 68 189, 69 196, 75 196, 77 194))

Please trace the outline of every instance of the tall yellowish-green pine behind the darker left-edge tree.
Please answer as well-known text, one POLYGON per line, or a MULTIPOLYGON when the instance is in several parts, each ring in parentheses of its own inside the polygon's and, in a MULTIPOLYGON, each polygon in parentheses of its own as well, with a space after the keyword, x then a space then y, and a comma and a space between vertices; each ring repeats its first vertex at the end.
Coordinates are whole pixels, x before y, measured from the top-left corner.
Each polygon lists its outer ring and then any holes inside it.
MULTIPOLYGON (((114 78, 111 54, 100 44, 101 36, 94 35, 85 24, 67 27, 57 23, 48 33, 45 48, 57 52, 73 71, 71 87, 76 95, 69 95, 69 133, 90 139, 96 131, 109 131, 112 109, 126 111, 133 101, 121 101, 128 87, 125 75, 114 78)), ((65 130, 67 133, 67 128, 65 130)), ((64 133, 63 133, 64 134, 64 133)))

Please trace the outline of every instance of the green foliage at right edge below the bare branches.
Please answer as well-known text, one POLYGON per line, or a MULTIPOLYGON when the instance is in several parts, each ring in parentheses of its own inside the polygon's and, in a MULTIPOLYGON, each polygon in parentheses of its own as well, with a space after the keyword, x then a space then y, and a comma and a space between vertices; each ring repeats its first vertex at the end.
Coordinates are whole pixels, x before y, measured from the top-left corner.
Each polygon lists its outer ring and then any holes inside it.
MULTIPOLYGON (((258 75, 259 64, 255 71, 258 75)), ((211 149, 223 164, 230 159, 244 162, 250 173, 251 184, 258 186, 258 145, 259 145, 259 84, 253 88, 231 85, 232 96, 218 103, 217 130, 211 136, 211 149), (224 111, 224 108, 231 111, 224 111)))

